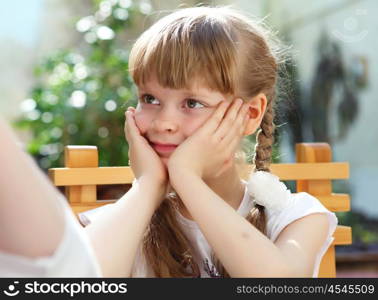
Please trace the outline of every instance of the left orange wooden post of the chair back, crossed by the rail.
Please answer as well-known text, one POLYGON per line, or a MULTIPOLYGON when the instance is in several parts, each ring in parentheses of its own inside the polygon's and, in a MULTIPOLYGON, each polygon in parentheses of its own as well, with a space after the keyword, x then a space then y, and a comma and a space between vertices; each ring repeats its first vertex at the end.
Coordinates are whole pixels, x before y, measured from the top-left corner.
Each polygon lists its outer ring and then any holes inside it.
MULTIPOLYGON (((66 146, 64 148, 66 168, 98 168, 96 146, 66 146)), ((80 182, 80 178, 78 178, 80 182)), ((96 202, 96 185, 67 186, 66 197, 72 204, 96 202)))

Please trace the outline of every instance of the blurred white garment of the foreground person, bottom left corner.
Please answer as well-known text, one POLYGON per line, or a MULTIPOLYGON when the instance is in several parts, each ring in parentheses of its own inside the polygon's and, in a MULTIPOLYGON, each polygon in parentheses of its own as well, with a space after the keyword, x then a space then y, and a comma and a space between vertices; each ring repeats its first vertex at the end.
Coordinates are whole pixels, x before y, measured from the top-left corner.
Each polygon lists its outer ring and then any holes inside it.
MULTIPOLYGON (((101 277, 99 264, 83 228, 72 214, 65 198, 63 238, 54 254, 28 258, 0 251, 0 277, 101 277)), ((43 239, 43 237, 41 237, 43 239)), ((38 243, 38 238, 36 238, 38 243)))

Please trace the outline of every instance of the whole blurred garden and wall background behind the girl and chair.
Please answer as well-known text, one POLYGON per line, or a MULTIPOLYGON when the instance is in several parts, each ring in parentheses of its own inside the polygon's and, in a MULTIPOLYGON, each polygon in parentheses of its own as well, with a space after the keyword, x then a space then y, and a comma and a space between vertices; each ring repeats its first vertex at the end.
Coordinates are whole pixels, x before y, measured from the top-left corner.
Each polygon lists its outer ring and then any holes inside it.
POLYGON ((127 165, 130 46, 168 10, 199 3, 265 17, 291 45, 274 162, 294 162, 296 142, 327 142, 333 161, 350 163, 350 179, 333 183, 351 195, 351 211, 336 214, 353 229, 353 244, 336 247, 337 276, 378 277, 375 0, 2 1, 1 116, 43 170, 63 166, 68 144, 97 145, 101 166, 127 165))

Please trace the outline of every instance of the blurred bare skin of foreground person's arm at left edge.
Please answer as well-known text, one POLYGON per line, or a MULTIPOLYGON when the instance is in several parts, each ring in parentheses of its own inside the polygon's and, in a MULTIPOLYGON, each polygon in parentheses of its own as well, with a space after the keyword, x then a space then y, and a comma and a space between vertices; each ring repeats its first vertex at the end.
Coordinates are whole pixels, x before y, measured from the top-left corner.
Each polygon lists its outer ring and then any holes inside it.
POLYGON ((0 250, 29 258, 53 254, 64 232, 58 197, 0 118, 0 250))

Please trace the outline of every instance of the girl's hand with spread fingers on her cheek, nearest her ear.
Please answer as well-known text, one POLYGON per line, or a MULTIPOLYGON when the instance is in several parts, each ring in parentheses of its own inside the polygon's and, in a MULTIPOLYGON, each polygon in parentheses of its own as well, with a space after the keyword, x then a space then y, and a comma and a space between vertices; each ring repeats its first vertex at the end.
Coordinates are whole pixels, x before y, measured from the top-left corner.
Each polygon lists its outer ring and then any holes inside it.
POLYGON ((191 172, 202 179, 218 177, 233 164, 248 121, 248 104, 222 102, 196 132, 181 143, 168 161, 168 172, 191 172), (227 115, 224 117, 227 111, 227 115))

